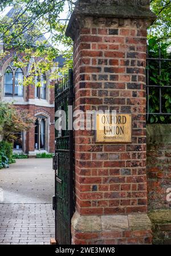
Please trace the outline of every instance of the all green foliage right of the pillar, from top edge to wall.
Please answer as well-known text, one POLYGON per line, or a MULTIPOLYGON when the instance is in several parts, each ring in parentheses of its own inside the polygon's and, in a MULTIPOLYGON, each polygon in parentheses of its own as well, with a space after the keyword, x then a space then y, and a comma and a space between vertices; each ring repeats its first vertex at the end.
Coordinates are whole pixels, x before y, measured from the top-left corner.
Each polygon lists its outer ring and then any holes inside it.
MULTIPOLYGON (((171 1, 151 0, 150 8, 157 19, 148 29, 148 51, 150 58, 170 59, 171 45, 171 1), (160 52, 159 52, 160 51, 160 52)), ((171 113, 170 61, 150 60, 146 67, 149 73, 149 113, 171 113), (168 86, 164 88, 164 86, 168 86), (161 109, 160 88, 161 87, 161 109), (169 88, 170 87, 170 88, 169 88)), ((169 115, 148 115, 148 123, 171 123, 169 115)))

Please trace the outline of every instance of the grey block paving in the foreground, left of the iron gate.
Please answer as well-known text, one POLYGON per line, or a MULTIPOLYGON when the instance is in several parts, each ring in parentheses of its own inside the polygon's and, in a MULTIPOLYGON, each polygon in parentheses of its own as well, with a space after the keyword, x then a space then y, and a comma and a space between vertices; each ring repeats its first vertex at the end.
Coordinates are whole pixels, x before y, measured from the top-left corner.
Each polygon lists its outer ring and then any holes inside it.
POLYGON ((0 204, 0 245, 48 245, 54 227, 51 204, 0 204))

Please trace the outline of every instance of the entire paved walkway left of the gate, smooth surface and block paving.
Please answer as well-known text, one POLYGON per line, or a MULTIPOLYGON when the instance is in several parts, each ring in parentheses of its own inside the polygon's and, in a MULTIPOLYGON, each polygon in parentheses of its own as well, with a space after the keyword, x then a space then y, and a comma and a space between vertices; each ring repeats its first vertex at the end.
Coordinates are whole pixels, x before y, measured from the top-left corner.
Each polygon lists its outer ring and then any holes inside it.
POLYGON ((49 244, 54 237, 51 159, 19 159, 0 170, 0 245, 49 244))

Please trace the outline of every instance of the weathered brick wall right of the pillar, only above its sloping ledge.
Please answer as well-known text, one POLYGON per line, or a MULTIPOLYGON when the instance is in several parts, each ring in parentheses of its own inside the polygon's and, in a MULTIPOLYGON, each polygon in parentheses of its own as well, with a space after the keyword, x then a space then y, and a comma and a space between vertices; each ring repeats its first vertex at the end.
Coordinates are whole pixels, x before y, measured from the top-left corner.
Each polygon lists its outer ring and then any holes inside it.
POLYGON ((169 209, 171 202, 166 195, 171 188, 171 125, 148 124, 147 131, 148 210, 169 209))

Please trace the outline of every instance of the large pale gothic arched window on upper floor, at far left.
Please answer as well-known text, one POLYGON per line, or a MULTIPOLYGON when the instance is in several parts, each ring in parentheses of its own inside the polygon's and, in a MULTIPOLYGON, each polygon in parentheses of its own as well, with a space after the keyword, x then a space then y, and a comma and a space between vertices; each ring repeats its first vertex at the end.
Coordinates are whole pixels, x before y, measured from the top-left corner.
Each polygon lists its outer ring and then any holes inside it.
POLYGON ((13 62, 5 71, 5 96, 23 96, 23 71, 21 68, 14 67, 13 62))

